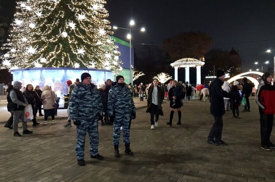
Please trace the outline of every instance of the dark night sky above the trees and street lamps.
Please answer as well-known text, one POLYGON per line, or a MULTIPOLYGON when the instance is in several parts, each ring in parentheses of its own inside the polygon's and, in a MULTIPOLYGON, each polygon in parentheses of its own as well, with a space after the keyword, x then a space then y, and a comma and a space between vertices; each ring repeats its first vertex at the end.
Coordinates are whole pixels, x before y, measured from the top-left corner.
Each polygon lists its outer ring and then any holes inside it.
MULTIPOLYGON (((11 15, 15 0, 2 0, 4 16, 11 15)), ((275 54, 275 1, 273 0, 108 0, 112 26, 145 27, 146 32, 132 31, 134 48, 141 44, 161 45, 164 39, 182 32, 206 32, 214 40, 212 48, 230 51, 233 47, 243 59, 243 71, 260 68, 275 54)), ((114 30, 114 36, 128 41, 126 30, 114 30)), ((159 46, 160 47, 160 46, 159 46)))

